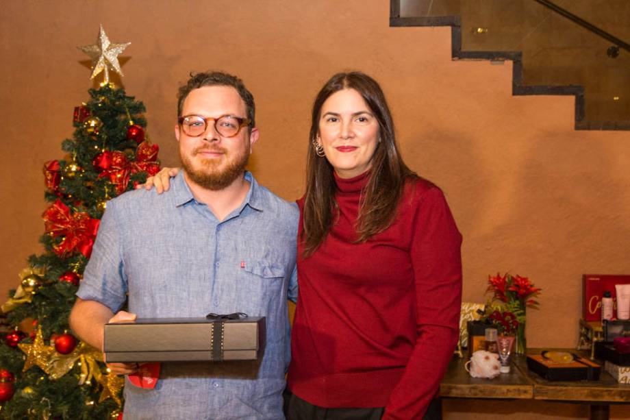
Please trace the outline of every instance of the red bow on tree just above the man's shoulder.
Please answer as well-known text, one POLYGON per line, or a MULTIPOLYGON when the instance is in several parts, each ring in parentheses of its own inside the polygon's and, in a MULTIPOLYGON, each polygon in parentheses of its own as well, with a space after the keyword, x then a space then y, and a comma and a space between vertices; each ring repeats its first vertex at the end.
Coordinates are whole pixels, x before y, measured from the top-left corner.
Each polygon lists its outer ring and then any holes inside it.
POLYGON ((160 164, 156 162, 159 149, 157 145, 151 145, 147 140, 138 146, 134 162, 129 162, 125 153, 121 151, 103 151, 94 158, 92 164, 103 171, 99 178, 107 177, 116 186, 116 194, 122 194, 127 190, 129 175, 132 173, 146 172, 153 176, 160 171, 160 164))

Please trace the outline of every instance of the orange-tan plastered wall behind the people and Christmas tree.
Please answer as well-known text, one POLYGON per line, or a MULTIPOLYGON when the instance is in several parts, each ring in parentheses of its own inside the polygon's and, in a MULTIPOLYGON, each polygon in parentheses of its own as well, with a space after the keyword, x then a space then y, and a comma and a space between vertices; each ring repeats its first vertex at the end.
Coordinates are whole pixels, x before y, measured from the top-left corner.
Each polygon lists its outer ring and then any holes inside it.
MULTIPOLYGON (((6 1, 0 14, 0 293, 43 233, 42 164, 62 158, 73 107, 91 86, 99 24, 123 53, 123 83, 148 133, 177 164, 175 92, 190 71, 222 69, 253 91, 261 132, 251 169, 281 197, 303 192, 309 113, 338 71, 375 77, 403 156, 442 187, 464 236, 464 299, 488 274, 542 287, 533 347, 577 343, 583 273, 630 273, 630 134, 576 132, 572 97, 513 97, 512 64, 452 61, 450 29, 390 27, 388 1, 6 1)), ((588 95, 588 92, 586 92, 588 95)), ((175 280, 175 279, 174 279, 175 280)), ((585 406, 446 404, 447 419, 579 419, 585 406)), ((630 418, 613 407, 615 419, 630 418)))

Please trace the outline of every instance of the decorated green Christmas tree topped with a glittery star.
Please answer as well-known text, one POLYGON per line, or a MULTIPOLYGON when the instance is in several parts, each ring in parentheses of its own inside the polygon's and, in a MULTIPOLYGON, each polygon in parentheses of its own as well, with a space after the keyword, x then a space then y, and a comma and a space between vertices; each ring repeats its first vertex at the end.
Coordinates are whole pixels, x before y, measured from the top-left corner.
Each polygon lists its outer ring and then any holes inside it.
POLYGON ((44 165, 45 252, 30 256, 21 284, 1 306, 0 418, 110 419, 121 416, 123 378, 108 372, 101 351, 73 336, 68 315, 108 199, 160 170, 157 145, 144 134, 144 105, 110 83, 129 43, 110 43, 103 27, 92 58, 90 100, 74 110, 64 160, 44 165), (8 326, 7 326, 8 325, 8 326), (26 334, 23 330, 32 330, 26 334))

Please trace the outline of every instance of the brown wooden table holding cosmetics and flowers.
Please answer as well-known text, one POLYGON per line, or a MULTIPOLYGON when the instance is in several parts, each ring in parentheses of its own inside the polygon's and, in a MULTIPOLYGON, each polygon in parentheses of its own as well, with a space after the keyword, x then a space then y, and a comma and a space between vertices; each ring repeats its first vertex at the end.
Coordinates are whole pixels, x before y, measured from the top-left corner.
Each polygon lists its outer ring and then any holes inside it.
MULTIPOLYGON (((528 349, 528 352, 540 354, 541 350, 528 349)), ((525 356, 518 356, 510 373, 486 380, 470 378, 464 369, 465 362, 466 358, 453 358, 442 380, 440 397, 539 399, 589 404, 592 420, 607 420, 610 404, 630 404, 630 384, 619 384, 603 369, 598 381, 550 382, 530 372, 525 356)))

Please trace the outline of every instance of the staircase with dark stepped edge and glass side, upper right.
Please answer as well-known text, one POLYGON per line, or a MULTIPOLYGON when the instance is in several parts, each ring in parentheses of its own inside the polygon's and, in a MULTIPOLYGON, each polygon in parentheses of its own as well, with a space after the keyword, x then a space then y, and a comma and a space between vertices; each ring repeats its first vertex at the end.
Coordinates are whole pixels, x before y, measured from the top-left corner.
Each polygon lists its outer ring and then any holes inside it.
POLYGON ((390 26, 450 26, 453 60, 514 62, 513 95, 573 95, 575 129, 630 130, 630 1, 390 0, 390 26))

